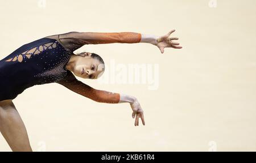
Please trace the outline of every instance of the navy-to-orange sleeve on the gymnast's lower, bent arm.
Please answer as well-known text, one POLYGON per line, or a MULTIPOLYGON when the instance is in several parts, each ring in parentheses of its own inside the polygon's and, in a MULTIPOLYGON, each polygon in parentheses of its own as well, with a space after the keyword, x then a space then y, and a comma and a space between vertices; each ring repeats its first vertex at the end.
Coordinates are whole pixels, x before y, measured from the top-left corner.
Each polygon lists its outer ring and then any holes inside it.
POLYGON ((81 81, 76 79, 71 71, 68 71, 68 75, 66 78, 57 81, 56 83, 59 83, 64 87, 70 89, 71 91, 88 97, 97 102, 117 104, 120 99, 119 93, 97 90, 90 87, 89 85, 82 83, 81 81))

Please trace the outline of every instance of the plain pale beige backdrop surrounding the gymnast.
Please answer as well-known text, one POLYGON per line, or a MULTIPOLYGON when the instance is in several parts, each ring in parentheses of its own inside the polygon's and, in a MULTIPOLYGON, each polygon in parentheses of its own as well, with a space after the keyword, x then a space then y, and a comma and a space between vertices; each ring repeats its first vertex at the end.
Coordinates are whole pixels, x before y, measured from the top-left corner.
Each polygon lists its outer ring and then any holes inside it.
MULTIPOLYGON (((159 63, 159 89, 145 84, 94 88, 138 98, 146 126, 129 104, 100 104, 51 83, 26 89, 14 104, 34 151, 256 151, 256 1, 0 1, 4 58, 44 36, 80 32, 166 34, 183 49, 149 44, 87 45, 108 63, 159 63), (210 143, 213 141, 213 143, 210 143), (213 144, 213 145, 212 145, 213 144)), ((0 151, 10 151, 0 136, 0 151)))

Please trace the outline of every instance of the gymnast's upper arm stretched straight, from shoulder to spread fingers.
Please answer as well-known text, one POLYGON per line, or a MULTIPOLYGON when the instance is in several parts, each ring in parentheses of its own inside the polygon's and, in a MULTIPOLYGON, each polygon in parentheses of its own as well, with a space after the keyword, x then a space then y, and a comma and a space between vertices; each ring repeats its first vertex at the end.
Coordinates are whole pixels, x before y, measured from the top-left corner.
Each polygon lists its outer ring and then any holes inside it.
POLYGON ((163 53, 163 49, 177 48, 180 49, 181 46, 177 42, 172 40, 177 40, 177 37, 169 37, 174 30, 170 31, 164 36, 146 35, 142 33, 135 32, 113 32, 113 33, 100 33, 100 32, 69 32, 59 35, 59 40, 62 44, 74 51, 81 48, 81 46, 86 44, 111 44, 111 43, 139 43, 145 42, 152 45, 158 46, 158 48, 163 53))

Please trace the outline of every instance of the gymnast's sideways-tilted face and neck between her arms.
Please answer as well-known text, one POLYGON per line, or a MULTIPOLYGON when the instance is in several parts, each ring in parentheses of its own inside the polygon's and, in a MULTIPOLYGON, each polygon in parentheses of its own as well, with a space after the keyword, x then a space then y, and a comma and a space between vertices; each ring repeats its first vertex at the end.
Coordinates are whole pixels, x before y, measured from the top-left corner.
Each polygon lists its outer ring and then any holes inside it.
POLYGON ((92 58, 92 53, 77 54, 73 72, 84 79, 97 79, 104 73, 105 65, 99 59, 92 58))

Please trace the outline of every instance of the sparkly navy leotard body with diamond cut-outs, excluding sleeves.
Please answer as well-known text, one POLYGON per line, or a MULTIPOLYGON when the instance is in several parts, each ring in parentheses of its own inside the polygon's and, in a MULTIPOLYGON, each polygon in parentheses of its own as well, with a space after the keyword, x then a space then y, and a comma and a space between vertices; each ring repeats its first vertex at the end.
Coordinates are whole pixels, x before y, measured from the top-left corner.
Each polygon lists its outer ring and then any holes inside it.
POLYGON ((52 38, 41 38, 16 49, 0 61, 0 101, 14 99, 33 85, 57 82, 72 52, 52 38))

